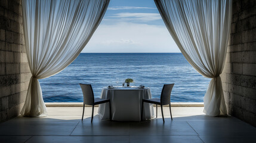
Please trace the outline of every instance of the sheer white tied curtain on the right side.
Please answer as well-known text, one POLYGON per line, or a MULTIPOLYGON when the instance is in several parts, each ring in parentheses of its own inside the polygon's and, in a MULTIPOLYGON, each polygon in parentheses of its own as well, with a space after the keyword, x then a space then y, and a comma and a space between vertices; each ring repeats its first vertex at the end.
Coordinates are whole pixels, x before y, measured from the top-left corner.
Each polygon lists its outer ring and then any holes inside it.
POLYGON ((169 33, 184 57, 212 78, 203 102, 209 116, 227 114, 220 74, 226 60, 232 0, 155 0, 169 33))

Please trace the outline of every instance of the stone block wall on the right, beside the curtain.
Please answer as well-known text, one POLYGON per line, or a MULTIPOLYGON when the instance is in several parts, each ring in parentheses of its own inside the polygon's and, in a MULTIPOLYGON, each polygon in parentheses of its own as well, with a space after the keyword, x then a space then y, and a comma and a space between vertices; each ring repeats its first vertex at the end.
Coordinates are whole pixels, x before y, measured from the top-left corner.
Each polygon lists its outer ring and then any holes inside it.
POLYGON ((256 1, 233 0, 223 74, 229 114, 256 126, 256 1))

